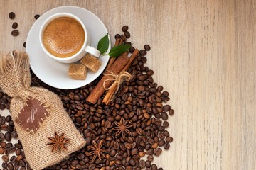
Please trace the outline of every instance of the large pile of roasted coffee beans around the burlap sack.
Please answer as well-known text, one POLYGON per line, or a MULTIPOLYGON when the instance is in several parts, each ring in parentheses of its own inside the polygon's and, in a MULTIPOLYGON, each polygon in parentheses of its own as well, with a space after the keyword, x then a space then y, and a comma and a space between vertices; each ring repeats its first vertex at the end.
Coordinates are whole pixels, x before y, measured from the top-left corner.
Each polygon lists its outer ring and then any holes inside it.
MULTIPOLYGON (((118 34, 115 37, 122 38, 125 44, 130 37, 128 26, 124 26, 122 31, 124 32, 122 35, 118 34)), ((133 49, 134 47, 131 47, 129 51, 132 52, 133 49)), ((144 45, 144 49, 139 51, 137 59, 128 69, 132 74, 131 79, 122 84, 110 106, 102 103, 104 96, 96 104, 85 101, 102 76, 79 89, 61 90, 44 84, 31 72, 31 85, 42 86, 60 96, 65 110, 87 142, 87 145, 78 152, 70 154, 69 159, 46 169, 162 169, 152 162, 163 149, 169 149, 173 141, 166 128, 169 127, 168 117, 174 114, 174 110, 165 104, 169 101, 169 93, 164 91, 163 86, 154 82, 152 77, 154 71, 144 65, 149 50, 150 46, 144 45), (113 129, 122 118, 127 121, 127 125, 130 125, 127 128, 130 135, 126 133, 124 138, 122 133, 117 135, 117 131, 113 129), (103 152, 105 157, 101 160, 96 157, 92 162, 93 155, 89 156, 91 151, 87 146, 92 145, 92 141, 100 140, 104 140, 102 149, 108 149, 109 152, 103 152)), ((4 93, 0 93, 0 96, 3 108, 9 108, 9 96, 4 93), (2 98, 6 99, 2 100, 2 98)), ((17 137, 11 117, 2 116, 0 123, 0 154, 3 155, 1 159, 4 160, 3 170, 18 169, 18 167, 31 169, 26 162, 21 142, 18 141, 14 145, 8 142, 12 137, 17 137), (9 158, 11 152, 15 152, 16 156, 9 158)))

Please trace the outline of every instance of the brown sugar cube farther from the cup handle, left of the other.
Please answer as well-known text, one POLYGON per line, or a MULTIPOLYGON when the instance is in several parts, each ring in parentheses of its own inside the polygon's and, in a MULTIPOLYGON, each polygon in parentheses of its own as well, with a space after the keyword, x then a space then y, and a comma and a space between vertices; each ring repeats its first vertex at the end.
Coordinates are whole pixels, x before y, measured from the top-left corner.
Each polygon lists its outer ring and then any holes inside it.
POLYGON ((86 79, 87 68, 83 64, 70 64, 68 76, 72 79, 86 79))

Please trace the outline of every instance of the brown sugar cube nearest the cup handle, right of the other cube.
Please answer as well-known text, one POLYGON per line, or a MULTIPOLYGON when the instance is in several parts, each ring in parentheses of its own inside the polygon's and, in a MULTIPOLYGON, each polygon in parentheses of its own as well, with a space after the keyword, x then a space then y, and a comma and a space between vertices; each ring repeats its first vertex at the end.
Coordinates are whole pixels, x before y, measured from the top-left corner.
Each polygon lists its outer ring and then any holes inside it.
POLYGON ((85 57, 82 57, 80 62, 84 64, 88 69, 92 70, 92 72, 97 72, 101 66, 100 60, 88 53, 85 55, 85 57))

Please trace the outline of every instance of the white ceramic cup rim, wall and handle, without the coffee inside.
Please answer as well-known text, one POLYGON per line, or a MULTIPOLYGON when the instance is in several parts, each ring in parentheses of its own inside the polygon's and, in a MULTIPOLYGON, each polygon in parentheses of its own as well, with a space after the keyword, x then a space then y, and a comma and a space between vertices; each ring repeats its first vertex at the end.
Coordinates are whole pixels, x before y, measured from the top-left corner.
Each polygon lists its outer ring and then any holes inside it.
POLYGON ((43 51, 46 52, 46 55, 53 58, 54 60, 57 60, 58 62, 63 62, 63 63, 77 62, 78 60, 81 60, 82 57, 84 57, 87 52, 89 52, 91 55, 94 55, 95 57, 100 56, 100 51, 90 46, 90 35, 87 32, 85 24, 82 23, 80 18, 78 18, 77 16, 71 13, 55 13, 53 16, 50 16, 49 18, 47 18, 46 21, 43 22, 43 25, 41 26, 41 29, 39 31, 39 40, 40 40, 41 47, 43 48, 43 51), (77 53, 75 53, 75 55, 72 55, 70 57, 56 57, 55 55, 48 52, 48 50, 46 49, 43 43, 43 33, 46 26, 48 26, 48 23, 53 21, 55 18, 59 18, 59 17, 70 17, 75 19, 76 21, 78 21, 78 23, 80 23, 83 30, 85 31, 85 41, 83 42, 81 49, 77 53))

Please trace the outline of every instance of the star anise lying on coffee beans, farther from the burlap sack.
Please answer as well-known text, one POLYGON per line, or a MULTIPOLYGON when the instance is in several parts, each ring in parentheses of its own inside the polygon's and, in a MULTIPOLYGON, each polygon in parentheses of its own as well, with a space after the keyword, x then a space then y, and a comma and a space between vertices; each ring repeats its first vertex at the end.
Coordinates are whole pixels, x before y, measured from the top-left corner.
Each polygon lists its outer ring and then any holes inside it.
POLYGON ((129 131, 128 128, 131 128, 133 125, 127 125, 128 123, 131 124, 131 121, 130 120, 124 121, 124 118, 121 118, 119 123, 114 122, 114 124, 117 125, 117 127, 112 128, 112 130, 117 130, 115 135, 118 136, 122 133, 123 139, 125 139, 126 133, 129 135, 132 135, 132 132, 129 131))

